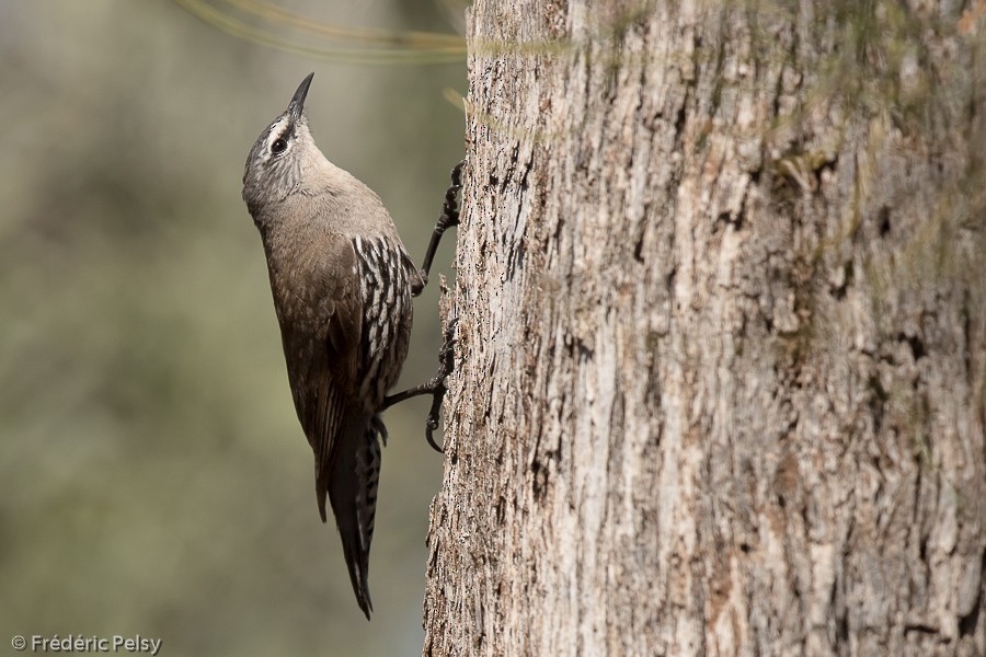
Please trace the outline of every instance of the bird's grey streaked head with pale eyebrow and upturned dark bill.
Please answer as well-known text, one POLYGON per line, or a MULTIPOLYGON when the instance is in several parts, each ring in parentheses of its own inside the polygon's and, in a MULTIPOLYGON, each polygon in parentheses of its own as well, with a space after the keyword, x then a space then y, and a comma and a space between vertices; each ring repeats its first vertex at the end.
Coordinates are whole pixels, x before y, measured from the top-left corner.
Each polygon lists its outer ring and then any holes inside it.
POLYGON ((323 159, 308 130, 305 97, 314 73, 309 73, 280 116, 261 132, 243 172, 243 200, 257 220, 264 206, 284 200, 297 191, 306 164, 323 159))

